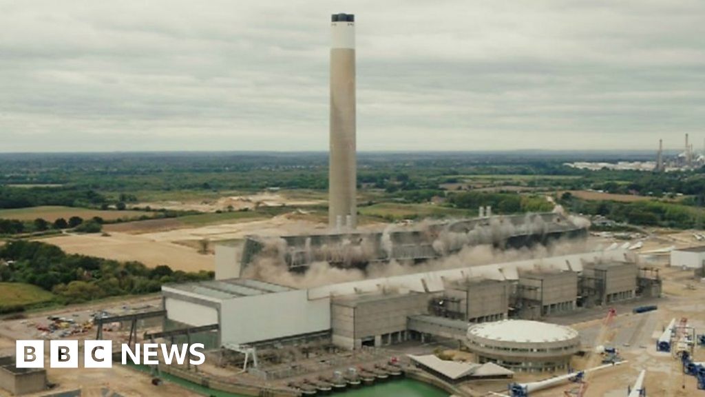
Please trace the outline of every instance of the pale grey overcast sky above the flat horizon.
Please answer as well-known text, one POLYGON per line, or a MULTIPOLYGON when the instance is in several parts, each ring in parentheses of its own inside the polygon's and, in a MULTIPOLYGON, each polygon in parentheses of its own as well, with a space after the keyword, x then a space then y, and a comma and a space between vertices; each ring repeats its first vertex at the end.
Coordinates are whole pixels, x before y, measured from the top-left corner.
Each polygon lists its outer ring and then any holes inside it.
POLYGON ((703 0, 0 0, 0 152, 327 150, 337 12, 360 150, 703 145, 703 0))

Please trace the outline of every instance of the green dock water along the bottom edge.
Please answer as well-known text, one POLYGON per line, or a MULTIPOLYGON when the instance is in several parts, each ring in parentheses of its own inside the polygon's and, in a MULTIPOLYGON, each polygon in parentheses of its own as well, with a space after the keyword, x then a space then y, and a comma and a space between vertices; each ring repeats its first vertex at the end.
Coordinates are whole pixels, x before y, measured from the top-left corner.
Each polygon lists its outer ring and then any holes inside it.
MULTIPOLYGON (((135 367, 135 366, 133 366, 135 367)), ((136 367, 140 371, 149 372, 149 369, 143 366, 136 367)), ((184 389, 194 391, 195 393, 204 394, 214 397, 246 397, 241 394, 225 393, 223 391, 211 390, 199 384, 192 383, 179 377, 174 377, 170 374, 161 374, 161 378, 178 384, 184 389)), ((375 386, 365 386, 357 390, 345 391, 343 393, 333 393, 331 396, 344 397, 448 397, 448 393, 429 384, 424 384, 412 379, 400 379, 387 381, 383 384, 375 386)))

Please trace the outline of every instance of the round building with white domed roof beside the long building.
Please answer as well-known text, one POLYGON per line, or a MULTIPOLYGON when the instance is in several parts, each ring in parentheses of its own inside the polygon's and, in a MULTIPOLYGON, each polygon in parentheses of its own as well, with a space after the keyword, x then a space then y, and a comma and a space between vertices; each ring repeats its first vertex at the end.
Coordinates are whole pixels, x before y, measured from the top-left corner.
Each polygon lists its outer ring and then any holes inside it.
POLYGON ((494 362, 519 372, 553 372, 570 365, 580 336, 568 326, 503 320, 467 328, 467 348, 480 364, 494 362))

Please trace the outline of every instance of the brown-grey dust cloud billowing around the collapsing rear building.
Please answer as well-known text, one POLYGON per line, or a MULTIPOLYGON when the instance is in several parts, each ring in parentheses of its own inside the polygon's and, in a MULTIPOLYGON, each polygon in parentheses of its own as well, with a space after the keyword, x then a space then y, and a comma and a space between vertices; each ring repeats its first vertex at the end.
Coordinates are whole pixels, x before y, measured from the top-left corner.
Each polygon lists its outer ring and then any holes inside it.
MULTIPOLYGON (((419 223, 417 225, 424 233, 430 233, 432 223, 419 223)), ((334 247, 321 246, 312 253, 312 247, 307 240, 305 247, 307 263, 310 265, 302 269, 301 273, 289 270, 284 259, 286 252, 286 241, 274 239, 266 245, 263 254, 258 256, 250 266, 243 272, 244 278, 257 278, 281 285, 288 285, 293 288, 312 288, 320 285, 335 283, 345 283, 349 281, 365 280, 368 278, 384 278, 395 275, 405 275, 411 273, 426 273, 429 271, 439 271, 451 268, 461 268, 479 266, 489 263, 503 263, 510 261, 522 261, 528 259, 541 259, 549 256, 559 256, 575 254, 589 251, 587 239, 559 239, 547 245, 537 244, 530 248, 520 249, 499 249, 494 246, 497 242, 506 237, 510 237, 520 232, 545 232, 548 225, 541 217, 527 215, 525 223, 513 225, 511 223, 501 223, 499 220, 491 219, 488 225, 474 227, 468 232, 451 232, 447 228, 436 232, 433 237, 426 241, 431 242, 434 251, 441 257, 431 259, 424 263, 412 263, 412 261, 370 261, 364 269, 357 267, 341 268, 331 266, 328 261, 311 261, 313 257, 320 258, 321 255, 333 261, 343 261, 354 259, 357 263, 362 263, 374 258, 376 245, 372 239, 362 238, 353 244, 351 239, 343 239, 334 247), (271 250, 271 251, 270 251, 271 250), (269 254, 266 254, 269 253, 269 254), (322 254, 321 254, 322 253, 322 254)), ((379 238, 379 249, 384 251, 387 257, 391 256, 393 242, 391 232, 393 226, 386 227, 379 238)))

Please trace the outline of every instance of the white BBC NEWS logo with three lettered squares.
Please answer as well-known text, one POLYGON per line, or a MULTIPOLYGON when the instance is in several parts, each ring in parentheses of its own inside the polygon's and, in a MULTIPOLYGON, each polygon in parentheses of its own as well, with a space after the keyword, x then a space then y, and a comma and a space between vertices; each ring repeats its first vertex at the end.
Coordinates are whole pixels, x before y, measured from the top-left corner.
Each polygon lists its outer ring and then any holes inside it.
MULTIPOLYGON (((172 362, 183 365, 187 359, 190 365, 201 365, 206 360, 203 350, 202 343, 191 345, 136 343, 134 348, 123 343, 121 362, 123 365, 128 364, 128 360, 137 365, 157 365, 161 353, 161 360, 166 365, 171 365, 172 362)), ((44 368, 44 340, 18 340, 15 352, 16 367, 44 368)), ((50 368, 78 368, 80 355, 78 340, 49 341, 50 368)), ((84 340, 82 356, 84 368, 111 368, 113 367, 113 343, 111 340, 84 340)))

